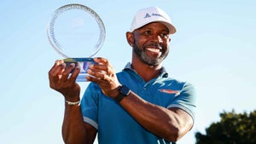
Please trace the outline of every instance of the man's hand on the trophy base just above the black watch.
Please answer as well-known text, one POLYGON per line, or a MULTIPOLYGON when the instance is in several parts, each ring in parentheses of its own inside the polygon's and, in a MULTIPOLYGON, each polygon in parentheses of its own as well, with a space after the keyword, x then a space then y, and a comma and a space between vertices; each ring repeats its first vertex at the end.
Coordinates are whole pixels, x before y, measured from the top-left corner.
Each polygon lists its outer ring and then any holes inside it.
POLYGON ((121 84, 119 84, 113 66, 104 58, 94 58, 94 60, 97 64, 90 65, 87 71, 90 76, 86 77, 87 80, 99 84, 103 94, 114 98, 119 94, 118 89, 121 84))

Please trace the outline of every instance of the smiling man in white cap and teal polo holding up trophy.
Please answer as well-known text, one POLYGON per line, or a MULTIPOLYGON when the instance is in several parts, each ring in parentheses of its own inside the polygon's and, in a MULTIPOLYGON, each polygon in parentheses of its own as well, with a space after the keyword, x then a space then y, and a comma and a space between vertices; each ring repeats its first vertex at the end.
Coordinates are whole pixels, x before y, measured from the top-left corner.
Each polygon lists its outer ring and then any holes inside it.
POLYGON ((192 128, 195 90, 191 84, 168 78, 162 66, 170 34, 175 32, 161 9, 139 10, 126 32, 131 63, 116 74, 107 59, 94 58, 97 64, 90 66, 86 77, 92 83, 81 101, 75 83, 79 67, 55 62, 49 84, 65 97, 65 143, 92 144, 96 134, 99 144, 175 143, 192 128))

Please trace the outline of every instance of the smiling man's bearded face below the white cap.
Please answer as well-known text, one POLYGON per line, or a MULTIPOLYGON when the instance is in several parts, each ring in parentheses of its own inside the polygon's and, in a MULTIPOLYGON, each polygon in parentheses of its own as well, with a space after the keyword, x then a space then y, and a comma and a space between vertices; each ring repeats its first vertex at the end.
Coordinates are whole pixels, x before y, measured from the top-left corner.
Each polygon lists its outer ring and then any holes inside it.
POLYGON ((150 23, 133 32, 133 52, 148 66, 158 66, 169 53, 169 31, 159 22, 150 23))

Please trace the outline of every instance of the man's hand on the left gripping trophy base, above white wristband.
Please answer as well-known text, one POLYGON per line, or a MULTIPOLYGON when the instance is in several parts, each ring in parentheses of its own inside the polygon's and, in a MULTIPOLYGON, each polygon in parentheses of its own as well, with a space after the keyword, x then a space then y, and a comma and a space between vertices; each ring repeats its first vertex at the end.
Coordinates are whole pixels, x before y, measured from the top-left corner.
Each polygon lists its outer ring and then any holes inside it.
POLYGON ((56 60, 55 65, 49 70, 49 87, 59 91, 67 101, 79 101, 80 87, 76 78, 80 72, 79 66, 74 64, 66 67, 63 60, 56 60), (74 69, 75 68, 75 69, 74 69), (70 72, 74 69, 69 77, 70 72))

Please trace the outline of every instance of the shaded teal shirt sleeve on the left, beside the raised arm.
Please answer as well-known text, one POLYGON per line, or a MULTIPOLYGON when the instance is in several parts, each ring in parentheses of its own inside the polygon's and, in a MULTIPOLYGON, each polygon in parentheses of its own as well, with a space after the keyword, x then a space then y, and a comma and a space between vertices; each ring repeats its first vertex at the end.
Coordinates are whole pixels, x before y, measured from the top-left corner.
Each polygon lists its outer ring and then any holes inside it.
POLYGON ((96 130, 98 130, 98 93, 100 91, 96 84, 90 83, 81 101, 84 122, 92 125, 96 130))

